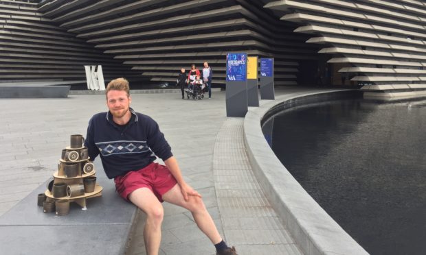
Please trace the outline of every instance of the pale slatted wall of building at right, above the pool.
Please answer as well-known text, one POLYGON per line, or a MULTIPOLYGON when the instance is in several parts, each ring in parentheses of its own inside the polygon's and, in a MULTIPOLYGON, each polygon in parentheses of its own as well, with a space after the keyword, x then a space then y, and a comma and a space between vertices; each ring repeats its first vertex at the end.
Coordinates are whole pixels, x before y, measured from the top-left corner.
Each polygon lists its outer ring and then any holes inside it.
POLYGON ((321 45, 346 81, 382 97, 426 95, 425 1, 265 2, 321 45))

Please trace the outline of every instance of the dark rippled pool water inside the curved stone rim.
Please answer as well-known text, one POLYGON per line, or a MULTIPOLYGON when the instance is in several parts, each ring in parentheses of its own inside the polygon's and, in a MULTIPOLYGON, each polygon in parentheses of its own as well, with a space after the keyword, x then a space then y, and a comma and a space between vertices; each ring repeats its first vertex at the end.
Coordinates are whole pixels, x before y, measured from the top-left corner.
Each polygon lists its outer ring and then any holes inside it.
POLYGON ((262 129, 304 189, 370 254, 426 254, 426 100, 298 106, 262 129))

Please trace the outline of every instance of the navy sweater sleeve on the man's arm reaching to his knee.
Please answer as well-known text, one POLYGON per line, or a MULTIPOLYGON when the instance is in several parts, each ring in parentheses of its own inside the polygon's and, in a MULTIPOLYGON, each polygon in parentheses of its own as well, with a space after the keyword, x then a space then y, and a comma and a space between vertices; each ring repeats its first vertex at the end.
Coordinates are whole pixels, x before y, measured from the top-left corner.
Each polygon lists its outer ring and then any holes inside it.
POLYGON ((173 156, 172 148, 166 141, 166 138, 164 138, 164 134, 159 130, 157 122, 151 118, 148 119, 146 143, 155 155, 163 161, 173 156))

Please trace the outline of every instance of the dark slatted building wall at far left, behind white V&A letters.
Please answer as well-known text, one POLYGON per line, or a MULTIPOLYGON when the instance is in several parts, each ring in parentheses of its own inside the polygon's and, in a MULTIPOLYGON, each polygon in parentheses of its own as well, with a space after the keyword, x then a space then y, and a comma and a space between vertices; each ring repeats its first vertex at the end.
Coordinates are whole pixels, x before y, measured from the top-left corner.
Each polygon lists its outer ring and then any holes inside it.
MULTIPOLYGON (((0 82, 85 84, 85 64, 102 65, 105 80, 139 74, 38 12, 36 3, 0 1, 0 82)), ((19 85, 16 85, 19 86, 19 85)))

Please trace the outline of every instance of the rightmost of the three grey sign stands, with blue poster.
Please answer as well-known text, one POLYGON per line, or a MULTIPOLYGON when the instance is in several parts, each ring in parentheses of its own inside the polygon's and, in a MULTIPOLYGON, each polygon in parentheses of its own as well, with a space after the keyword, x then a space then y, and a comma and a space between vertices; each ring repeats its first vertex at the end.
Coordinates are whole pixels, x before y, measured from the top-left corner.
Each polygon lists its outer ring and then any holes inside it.
POLYGON ((275 99, 273 58, 260 58, 260 99, 275 99))

